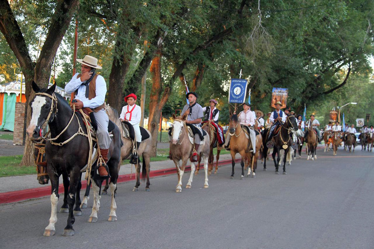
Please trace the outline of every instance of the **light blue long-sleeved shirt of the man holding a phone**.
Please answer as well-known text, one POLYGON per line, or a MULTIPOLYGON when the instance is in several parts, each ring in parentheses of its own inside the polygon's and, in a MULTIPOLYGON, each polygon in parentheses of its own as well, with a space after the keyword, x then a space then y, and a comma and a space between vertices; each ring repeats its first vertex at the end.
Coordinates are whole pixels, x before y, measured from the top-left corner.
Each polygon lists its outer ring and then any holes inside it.
POLYGON ((81 81, 77 78, 78 73, 74 74, 73 78, 65 85, 65 93, 73 93, 78 89, 78 93, 75 99, 79 99, 83 102, 83 107, 96 108, 101 106, 105 101, 105 94, 107 93, 107 84, 101 75, 97 75, 96 78, 96 96, 92 99, 86 97, 86 86, 82 85, 85 81, 81 81))

